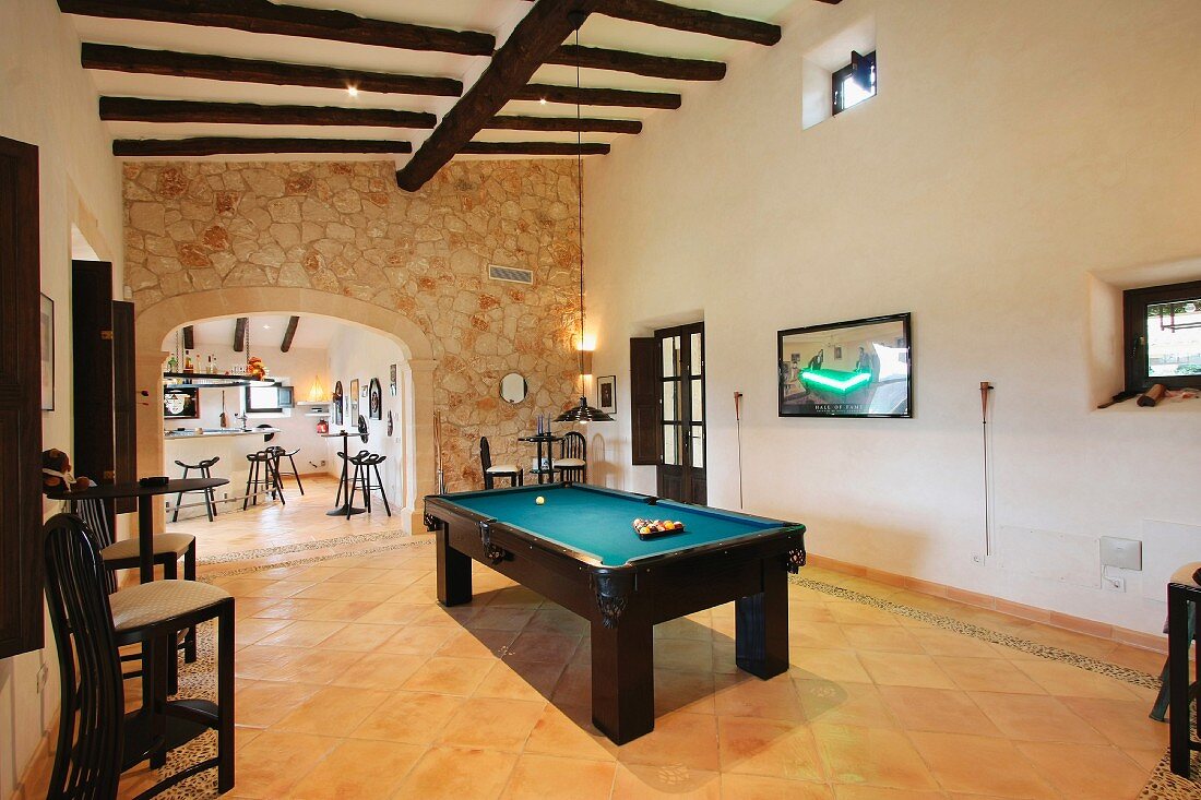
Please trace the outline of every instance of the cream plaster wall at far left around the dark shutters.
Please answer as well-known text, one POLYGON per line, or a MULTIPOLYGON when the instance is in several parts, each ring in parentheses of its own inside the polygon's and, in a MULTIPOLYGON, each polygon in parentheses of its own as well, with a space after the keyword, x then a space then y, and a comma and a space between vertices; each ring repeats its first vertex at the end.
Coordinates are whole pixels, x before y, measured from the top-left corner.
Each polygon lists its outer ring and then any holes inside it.
MULTIPOLYGON (((0 136, 36 144, 41 159, 42 292, 54 299, 55 411, 42 413, 46 447, 70 449, 71 226, 121 279, 120 168, 97 115, 97 95, 79 68, 79 44, 53 2, 0 0, 0 136)), ((120 297, 116 292, 114 297, 120 297)), ((49 514, 58 503, 47 503, 49 514)), ((50 631, 47 622, 46 635, 50 631)), ((0 659, 0 796, 22 772, 58 709, 52 650, 0 659), (49 665, 38 693, 37 673, 49 665)))

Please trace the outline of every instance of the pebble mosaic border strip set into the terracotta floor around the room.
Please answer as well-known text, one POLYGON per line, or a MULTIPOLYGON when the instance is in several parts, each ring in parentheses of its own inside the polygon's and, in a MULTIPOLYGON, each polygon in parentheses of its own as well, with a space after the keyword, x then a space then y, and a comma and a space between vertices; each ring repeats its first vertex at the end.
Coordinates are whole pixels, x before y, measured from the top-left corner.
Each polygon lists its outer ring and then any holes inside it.
MULTIPOLYGON (((401 535, 406 536, 407 535, 401 535)), ((331 547, 335 544, 349 544, 354 542, 371 542, 381 541, 386 538, 395 537, 394 533, 380 532, 380 533, 365 533, 358 536, 340 537, 339 539, 327 539, 323 543, 317 544, 317 547, 331 547)), ((432 539, 430 538, 411 538, 406 542, 392 542, 375 548, 369 548, 365 550, 349 550, 345 553, 330 553, 318 556, 309 556, 305 559, 292 559, 288 561, 265 563, 265 565, 251 565, 239 569, 227 569, 220 573, 211 573, 202 578, 202 580, 213 580, 215 578, 226 578, 232 575, 244 575, 253 572, 265 572, 268 569, 276 569, 281 567, 300 567, 317 563, 321 561, 329 561, 331 559, 341 557, 358 557, 364 555, 372 555, 376 553, 388 553, 392 550, 399 550, 401 548, 410 547, 430 547, 432 545, 432 539)), ((286 555, 288 553, 299 553, 309 549, 315 549, 312 547, 298 548, 295 545, 283 545, 280 548, 264 548, 262 550, 251 550, 244 553, 228 553, 221 556, 213 556, 214 561, 209 563, 231 563, 237 561, 251 561, 255 559, 269 557, 271 555, 286 555), (219 559, 219 560, 217 560, 219 559)), ((852 589, 846 589, 843 586, 835 586, 833 584, 827 584, 820 580, 813 580, 805 578, 802 575, 789 575, 789 581, 796 586, 803 589, 809 589, 813 591, 821 592, 824 595, 830 595, 832 597, 839 597, 854 603, 860 603, 862 605, 870 605, 872 608, 878 608, 889 614, 896 614, 900 616, 906 616, 919 622, 925 622, 945 631, 951 631, 973 639, 979 639, 981 641, 988 641, 992 644, 999 644, 1005 647, 1011 647, 1021 652, 1026 652, 1033 656, 1039 656, 1040 658, 1046 658, 1048 661, 1054 661, 1059 663, 1070 664, 1080 669, 1085 669, 1099 675, 1105 675, 1113 677, 1116 680, 1140 686, 1143 688, 1159 688, 1159 679, 1154 675, 1140 671, 1137 669, 1130 669, 1129 667, 1122 667, 1121 664, 1111 664, 1109 662, 1100 661, 1099 658, 1093 658, 1091 656, 1085 656, 1081 653, 1071 652, 1070 650, 1064 650, 1063 647, 1054 647, 1052 645, 1044 645, 1036 641, 1030 641, 1029 639, 1022 639, 1021 637, 1015 637, 1008 633, 1000 633, 999 631, 992 631, 990 628, 973 625, 970 622, 963 622, 954 617, 944 616, 942 614, 934 614, 932 611, 925 611, 922 609, 914 608, 912 605, 906 605, 903 603, 897 603, 882 597, 873 597, 864 592, 858 592, 852 589)), ((213 697, 215 694, 215 686, 213 683, 213 631, 211 626, 208 629, 201 631, 199 640, 199 658, 195 664, 186 664, 180 671, 180 693, 193 695, 193 697, 213 697)), ((1194 723, 1195 728, 1195 723, 1194 723)), ((183 769, 187 764, 192 764, 197 760, 209 758, 216 754, 216 736, 213 734, 205 734, 201 736, 195 742, 174 751, 168 758, 167 765, 160 771, 160 776, 166 776, 175 770, 183 769)), ((1159 764, 1152 770, 1151 776, 1147 780, 1146 786, 1139 794, 1136 800, 1195 800, 1201 793, 1201 753, 1194 752, 1191 760, 1193 775, 1199 776, 1197 780, 1189 780, 1181 777, 1171 771, 1169 754, 1165 753, 1164 758, 1160 759, 1159 764)), ((165 800, 209 800, 210 798, 216 798, 215 793, 215 772, 209 770, 196 775, 177 787, 165 792, 162 798, 165 800)))

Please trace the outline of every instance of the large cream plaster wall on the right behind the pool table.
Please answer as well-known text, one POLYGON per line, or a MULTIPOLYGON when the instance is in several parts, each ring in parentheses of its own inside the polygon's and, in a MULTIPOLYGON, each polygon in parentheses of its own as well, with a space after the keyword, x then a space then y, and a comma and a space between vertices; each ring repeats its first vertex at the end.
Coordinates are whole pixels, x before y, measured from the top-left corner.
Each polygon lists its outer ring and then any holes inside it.
MULTIPOLYGON (((1201 526, 1201 401, 1094 408, 1122 388, 1113 285, 1201 277, 1197 41, 1195 0, 796 4, 778 46, 586 167, 594 371, 620 399, 588 434, 597 476, 653 491, 629 466, 628 339, 704 317, 711 505, 737 506, 743 392, 746 508, 806 523, 812 551, 1158 631, 1158 577, 1116 593, 1020 551, 974 561, 979 382, 1018 550, 1088 563, 1099 536, 1201 526), (848 31, 874 38, 880 94, 805 130, 802 74, 848 31), (914 419, 777 417, 778 329, 898 311, 914 419)), ((1148 548, 1201 559, 1201 527, 1172 530, 1148 548)))

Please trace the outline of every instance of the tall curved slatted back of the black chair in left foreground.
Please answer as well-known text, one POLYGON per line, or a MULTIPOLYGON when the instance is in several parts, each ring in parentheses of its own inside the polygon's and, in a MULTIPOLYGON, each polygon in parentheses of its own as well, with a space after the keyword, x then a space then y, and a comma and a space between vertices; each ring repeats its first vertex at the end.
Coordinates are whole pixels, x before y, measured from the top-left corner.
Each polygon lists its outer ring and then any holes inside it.
POLYGON ((59 744, 47 798, 112 800, 121 776, 125 694, 104 589, 107 569, 74 514, 55 514, 42 532, 61 683, 59 744))

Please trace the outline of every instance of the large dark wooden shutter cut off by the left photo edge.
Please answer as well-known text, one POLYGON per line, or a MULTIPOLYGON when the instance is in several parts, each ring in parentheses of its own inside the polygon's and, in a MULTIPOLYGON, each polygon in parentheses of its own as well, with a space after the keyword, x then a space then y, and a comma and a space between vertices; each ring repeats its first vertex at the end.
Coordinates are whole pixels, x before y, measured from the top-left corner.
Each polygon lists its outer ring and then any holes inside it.
POLYGON ((37 148, 0 137, 0 658, 42 646, 37 148))

